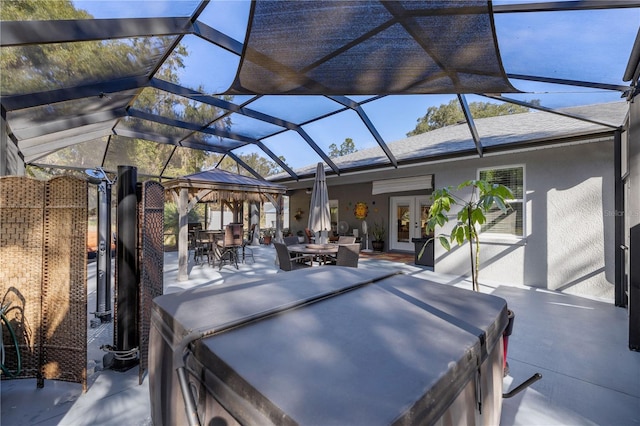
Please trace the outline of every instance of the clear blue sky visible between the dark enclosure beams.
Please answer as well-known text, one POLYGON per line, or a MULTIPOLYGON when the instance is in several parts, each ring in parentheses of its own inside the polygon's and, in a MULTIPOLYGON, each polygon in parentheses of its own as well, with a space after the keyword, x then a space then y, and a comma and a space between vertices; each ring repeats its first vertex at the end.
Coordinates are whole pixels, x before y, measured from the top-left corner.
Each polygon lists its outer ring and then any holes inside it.
MULTIPOLYGON (((505 3, 522 1, 494 1, 496 5, 505 3)), ((96 18, 114 18, 189 16, 199 2, 93 0, 75 1, 74 4, 96 18)), ((243 41, 248 5, 246 0, 212 1, 199 20, 243 41)), ((640 8, 495 15, 498 47, 507 73, 608 84, 624 84, 622 76, 639 25, 640 8)), ((238 58, 194 36, 185 37, 183 43, 190 55, 180 76, 181 84, 191 88, 202 85, 211 94, 224 91, 233 81, 238 58)), ((512 84, 526 93, 507 97, 540 99, 543 106, 550 108, 620 100, 619 93, 597 89, 524 80, 512 80, 512 84)), ((429 106, 448 103, 452 98, 454 96, 448 95, 393 96, 366 104, 364 110, 389 143, 404 138, 429 106)), ((240 100, 236 98, 236 102, 240 100)), ((489 99, 467 95, 467 101, 487 102, 489 99)), ((251 107, 269 111, 266 102, 251 107)), ((303 112, 301 108, 299 113, 303 112)), ((352 138, 359 149, 377 146, 369 131, 354 118, 353 112, 346 112, 308 125, 305 130, 323 149, 328 149, 332 143, 339 145, 347 137, 352 138)), ((299 141, 299 136, 286 132, 265 139, 264 143, 276 155, 283 155, 294 168, 318 161, 319 157, 311 148, 296 148, 296 152, 291 152, 288 147, 293 141, 299 141)), ((240 153, 255 150, 247 147, 240 153)))

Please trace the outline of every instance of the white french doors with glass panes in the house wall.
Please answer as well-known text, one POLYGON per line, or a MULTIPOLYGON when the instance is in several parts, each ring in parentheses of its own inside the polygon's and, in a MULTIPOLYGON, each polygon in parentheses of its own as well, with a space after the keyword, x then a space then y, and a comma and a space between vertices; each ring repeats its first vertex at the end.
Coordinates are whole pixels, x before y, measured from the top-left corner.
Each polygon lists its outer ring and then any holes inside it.
POLYGON ((429 214, 428 196, 391 197, 389 249, 414 251, 412 238, 425 237, 424 229, 429 214))

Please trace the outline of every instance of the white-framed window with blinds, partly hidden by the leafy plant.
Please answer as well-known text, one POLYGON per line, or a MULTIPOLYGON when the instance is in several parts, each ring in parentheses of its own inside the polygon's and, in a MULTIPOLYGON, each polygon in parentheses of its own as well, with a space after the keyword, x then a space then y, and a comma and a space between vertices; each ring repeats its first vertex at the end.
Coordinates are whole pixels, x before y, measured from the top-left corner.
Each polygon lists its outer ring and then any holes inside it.
POLYGON ((481 232, 512 237, 524 237, 524 166, 500 169, 483 169, 478 172, 481 180, 502 184, 513 193, 513 199, 507 200, 511 208, 503 213, 495 207, 487 213, 487 223, 481 232))

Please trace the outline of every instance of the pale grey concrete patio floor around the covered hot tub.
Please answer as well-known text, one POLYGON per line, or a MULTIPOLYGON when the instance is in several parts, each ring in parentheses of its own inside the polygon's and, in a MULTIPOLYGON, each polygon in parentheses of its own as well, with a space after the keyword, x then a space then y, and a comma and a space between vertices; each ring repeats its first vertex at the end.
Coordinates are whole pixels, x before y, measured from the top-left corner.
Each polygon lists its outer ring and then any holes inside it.
MULTIPOLYGON (((177 253, 165 253, 165 294, 187 288, 241 282, 275 274, 275 250, 253 248, 255 263, 236 270, 191 266, 190 279, 177 281, 177 253)), ((471 288, 468 281, 428 268, 374 258, 360 268, 395 268, 444 284, 471 288)), ((89 311, 95 307, 95 263, 88 266, 89 311)), ((502 404, 502 425, 640 424, 640 353, 628 349, 627 312, 612 303, 528 287, 484 283, 482 291, 507 300, 516 313, 509 341, 507 392, 530 377, 542 380, 502 404)), ((35 380, 1 382, 0 424, 151 425, 148 380, 138 368, 102 369, 103 344, 113 343, 112 323, 89 328, 88 390, 78 384, 35 380)))

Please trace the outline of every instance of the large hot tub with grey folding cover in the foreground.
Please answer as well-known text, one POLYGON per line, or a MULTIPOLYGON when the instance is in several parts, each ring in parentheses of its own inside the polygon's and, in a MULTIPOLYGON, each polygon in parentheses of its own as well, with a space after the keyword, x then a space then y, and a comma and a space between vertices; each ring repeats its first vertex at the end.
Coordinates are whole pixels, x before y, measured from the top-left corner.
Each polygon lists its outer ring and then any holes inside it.
POLYGON ((506 308, 491 295, 337 266, 163 295, 152 311, 152 419, 499 424, 506 308))

